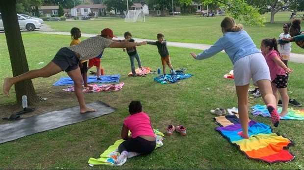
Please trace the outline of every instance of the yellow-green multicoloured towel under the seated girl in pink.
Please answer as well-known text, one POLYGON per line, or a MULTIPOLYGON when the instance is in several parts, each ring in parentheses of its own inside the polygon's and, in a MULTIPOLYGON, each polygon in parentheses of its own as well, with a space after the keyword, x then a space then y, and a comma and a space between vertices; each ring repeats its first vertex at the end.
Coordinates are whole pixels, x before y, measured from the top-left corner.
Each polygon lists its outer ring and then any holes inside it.
MULTIPOLYGON (((162 143, 162 140, 163 140, 163 136, 164 134, 160 131, 158 131, 158 129, 153 129, 154 130, 154 133, 156 135, 156 148, 159 148, 159 147, 162 147, 163 146, 163 143, 162 143)), ((130 131, 129 131, 129 134, 130 134, 130 131)), ((90 158, 88 163, 91 167, 93 167, 94 165, 110 165, 110 166, 121 166, 123 165, 126 161, 124 160, 124 162, 122 164, 119 164, 119 165, 115 165, 115 161, 116 159, 119 157, 119 152, 118 152, 118 146, 124 142, 123 139, 120 139, 120 140, 117 140, 114 145, 111 145, 108 149, 106 149, 101 155, 100 155, 100 158, 99 159, 95 159, 95 158, 90 158)), ((136 153, 136 152, 134 152, 136 153)), ((138 154, 136 154, 138 155, 138 154)), ((134 156, 136 156, 134 155, 134 156)))

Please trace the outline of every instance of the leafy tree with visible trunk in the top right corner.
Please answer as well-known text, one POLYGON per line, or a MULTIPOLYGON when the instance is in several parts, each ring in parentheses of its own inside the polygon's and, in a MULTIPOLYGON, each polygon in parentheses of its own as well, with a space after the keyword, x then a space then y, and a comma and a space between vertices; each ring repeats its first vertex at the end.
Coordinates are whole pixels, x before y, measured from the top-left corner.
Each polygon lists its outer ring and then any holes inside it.
POLYGON ((304 7, 304 0, 247 0, 249 5, 259 8, 259 13, 270 12, 270 22, 275 22, 275 14, 285 8, 304 7))

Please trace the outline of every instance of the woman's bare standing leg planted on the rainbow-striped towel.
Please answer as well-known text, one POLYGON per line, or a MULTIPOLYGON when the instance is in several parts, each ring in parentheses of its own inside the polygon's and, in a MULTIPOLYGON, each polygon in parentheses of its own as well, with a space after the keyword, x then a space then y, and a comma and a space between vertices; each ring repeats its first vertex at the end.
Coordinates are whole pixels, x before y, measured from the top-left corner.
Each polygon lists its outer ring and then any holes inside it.
POLYGON ((236 94, 237 94, 237 105, 238 105, 238 111, 239 111, 239 117, 241 121, 241 126, 243 129, 243 135, 248 135, 248 85, 243 86, 235 86, 236 88, 236 94))

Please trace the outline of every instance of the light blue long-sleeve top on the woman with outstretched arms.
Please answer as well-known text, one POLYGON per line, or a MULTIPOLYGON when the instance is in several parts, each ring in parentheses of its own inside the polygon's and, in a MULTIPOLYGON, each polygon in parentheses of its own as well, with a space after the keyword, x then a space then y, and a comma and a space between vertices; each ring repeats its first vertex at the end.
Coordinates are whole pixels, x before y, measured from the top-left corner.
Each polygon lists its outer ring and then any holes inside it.
POLYGON ((240 58, 253 53, 261 53, 245 30, 226 32, 214 45, 198 54, 196 59, 203 60, 225 50, 231 62, 235 64, 240 58))

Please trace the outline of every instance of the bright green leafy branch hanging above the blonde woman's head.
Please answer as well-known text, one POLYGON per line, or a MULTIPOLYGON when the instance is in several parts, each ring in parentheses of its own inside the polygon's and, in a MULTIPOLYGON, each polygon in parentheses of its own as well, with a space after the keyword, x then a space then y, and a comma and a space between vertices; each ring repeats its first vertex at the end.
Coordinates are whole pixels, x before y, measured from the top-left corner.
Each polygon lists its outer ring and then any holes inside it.
POLYGON ((223 6, 226 14, 235 20, 243 20, 249 25, 264 26, 265 18, 246 0, 203 0, 203 3, 205 5, 217 3, 218 6, 223 6))

